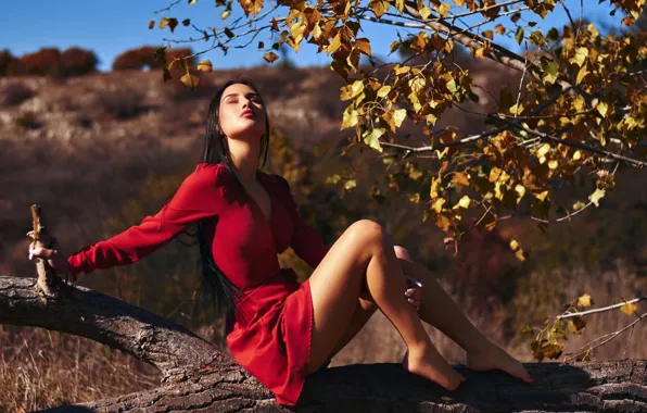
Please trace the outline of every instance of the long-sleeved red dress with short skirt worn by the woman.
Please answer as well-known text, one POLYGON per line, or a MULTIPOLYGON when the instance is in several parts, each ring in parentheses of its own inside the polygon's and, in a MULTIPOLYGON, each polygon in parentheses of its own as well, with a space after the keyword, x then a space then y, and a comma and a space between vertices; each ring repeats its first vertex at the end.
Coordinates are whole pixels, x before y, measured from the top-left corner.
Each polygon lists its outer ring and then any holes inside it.
POLYGON ((313 299, 309 281, 300 284, 277 255, 290 246, 314 268, 328 247, 299 214, 288 182, 257 176, 271 201, 269 221, 225 165, 201 163, 157 214, 71 255, 68 263, 73 273, 130 264, 202 221, 216 264, 241 291, 228 326, 229 350, 277 402, 294 405, 310 359, 313 299))

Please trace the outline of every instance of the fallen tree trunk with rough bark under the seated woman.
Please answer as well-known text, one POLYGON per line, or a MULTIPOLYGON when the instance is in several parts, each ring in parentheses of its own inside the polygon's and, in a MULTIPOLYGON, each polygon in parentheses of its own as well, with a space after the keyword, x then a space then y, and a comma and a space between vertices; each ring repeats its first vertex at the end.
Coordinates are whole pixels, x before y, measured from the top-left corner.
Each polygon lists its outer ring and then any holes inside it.
MULTIPOLYGON (((156 389, 53 411, 279 412, 272 395, 227 353, 166 318, 86 288, 0 276, 0 324, 74 334, 126 351, 164 374, 156 389)), ((498 372, 467 376, 448 392, 397 364, 353 365, 309 376, 299 411, 640 412, 647 362, 529 363, 527 385, 498 372)))

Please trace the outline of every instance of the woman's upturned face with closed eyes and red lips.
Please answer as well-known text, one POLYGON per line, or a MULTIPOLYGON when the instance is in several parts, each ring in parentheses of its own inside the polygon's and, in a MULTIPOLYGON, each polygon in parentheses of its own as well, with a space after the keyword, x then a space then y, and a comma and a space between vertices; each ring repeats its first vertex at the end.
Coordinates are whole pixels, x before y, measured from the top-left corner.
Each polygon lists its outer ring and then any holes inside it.
POLYGON ((261 96, 250 86, 234 84, 223 92, 220 129, 230 139, 261 142, 267 122, 261 96))

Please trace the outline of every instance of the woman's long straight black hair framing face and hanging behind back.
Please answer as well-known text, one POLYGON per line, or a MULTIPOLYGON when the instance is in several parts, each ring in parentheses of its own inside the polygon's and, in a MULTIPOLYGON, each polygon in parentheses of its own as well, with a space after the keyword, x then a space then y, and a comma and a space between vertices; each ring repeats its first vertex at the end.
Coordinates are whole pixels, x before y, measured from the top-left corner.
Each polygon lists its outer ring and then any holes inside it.
MULTIPOLYGON (((202 162, 212 164, 223 163, 230 171, 232 167, 231 155, 229 153, 229 146, 227 145, 227 137, 220 129, 218 115, 220 113, 220 99, 223 98, 225 89, 237 84, 251 87, 258 97, 261 97, 256 85, 248 78, 232 79, 223 85, 208 107, 204 150, 202 155, 202 162)), ((261 167, 264 167, 267 162, 267 152, 269 149, 269 120, 265 104, 263 104, 263 109, 265 111, 266 122, 265 134, 263 135, 263 138, 261 138, 261 152, 258 159, 261 167)), ((238 290, 216 264, 212 254, 212 246, 207 242, 202 222, 198 223, 195 237, 198 238, 198 243, 200 246, 200 271, 202 273, 202 279, 200 287, 198 288, 198 296, 212 304, 218 315, 230 316, 231 310, 234 306, 234 298, 238 290)))

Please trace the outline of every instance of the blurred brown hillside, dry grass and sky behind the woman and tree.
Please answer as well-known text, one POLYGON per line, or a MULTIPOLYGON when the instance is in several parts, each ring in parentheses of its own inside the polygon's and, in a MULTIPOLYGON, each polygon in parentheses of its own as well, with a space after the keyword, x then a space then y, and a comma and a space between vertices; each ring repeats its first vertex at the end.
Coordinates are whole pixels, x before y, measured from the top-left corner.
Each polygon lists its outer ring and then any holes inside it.
MULTIPOLYGON (((0 7, 0 275, 35 276, 25 236, 33 203, 43 205, 49 230, 67 254, 157 212, 200 162, 215 90, 244 75, 256 82, 270 115, 266 170, 291 183, 302 214, 326 241, 333 243, 359 218, 381 223, 439 277, 487 337, 521 360, 532 361, 532 352, 520 329, 559 314, 573 298, 589 293, 596 305, 606 305, 647 290, 642 171, 623 171, 598 209, 546 233, 527 220, 506 220, 495 231, 469 234, 455 255, 445 250, 433 223, 421 222, 423 205, 381 179, 383 165, 371 162, 375 153, 359 146, 342 151, 352 134, 340 132, 343 83, 325 66, 325 55, 306 47, 299 54, 282 50, 271 65, 255 50, 207 55, 215 71, 201 74, 201 85, 192 91, 180 85, 179 76, 163 83, 152 60, 169 34, 147 26, 164 2, 28 4, 0 7), (357 186, 327 184, 334 174, 355 174, 357 186), (522 242, 527 261, 515 258, 511 239, 522 242)), ((587 7, 586 13, 585 18, 608 32, 619 27, 596 7, 587 7)), ((191 14, 208 18, 206 11, 191 14)), ((551 17, 555 26, 566 22, 558 13, 551 17)), ((386 54, 392 38, 376 39, 373 50, 386 54)), ((523 52, 513 42, 509 46, 523 52)), ((175 47, 167 60, 191 52, 175 47)), ((455 59, 479 86, 477 109, 493 104, 491 97, 502 87, 519 84, 519 74, 489 61, 460 52, 455 59)), ((481 117, 458 111, 441 118, 439 126, 447 125, 472 132, 485 127, 481 117)), ((572 195, 568 187, 562 192, 564 199, 572 195)), ((79 284, 223 345, 220 321, 193 305, 199 274, 192 241, 182 236, 139 263, 93 273, 79 284)), ((291 250, 281 262, 302 279, 312 272, 291 250)), ((594 315, 583 335, 569 338, 567 352, 630 322, 619 311, 594 315)), ((451 362, 465 362, 455 343, 431 327, 429 331, 451 362)), ((594 359, 646 359, 646 339, 647 326, 638 324, 631 335, 595 350, 594 359)), ((377 314, 333 365, 398 362, 403 354, 399 336, 377 314)), ((0 411, 96 400, 155 387, 158 379, 152 367, 102 345, 0 326, 0 411)))

